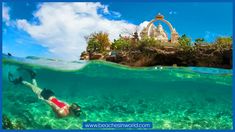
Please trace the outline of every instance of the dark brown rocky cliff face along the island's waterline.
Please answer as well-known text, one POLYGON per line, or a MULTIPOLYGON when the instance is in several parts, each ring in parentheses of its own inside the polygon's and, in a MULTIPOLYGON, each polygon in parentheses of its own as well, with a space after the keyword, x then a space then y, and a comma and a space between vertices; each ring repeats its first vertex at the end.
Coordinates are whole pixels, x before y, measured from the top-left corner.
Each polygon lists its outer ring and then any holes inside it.
POLYGON ((211 45, 177 48, 144 47, 141 49, 136 48, 129 51, 117 51, 115 55, 106 55, 97 59, 103 59, 106 61, 134 67, 177 65, 231 69, 232 45, 226 47, 211 45))

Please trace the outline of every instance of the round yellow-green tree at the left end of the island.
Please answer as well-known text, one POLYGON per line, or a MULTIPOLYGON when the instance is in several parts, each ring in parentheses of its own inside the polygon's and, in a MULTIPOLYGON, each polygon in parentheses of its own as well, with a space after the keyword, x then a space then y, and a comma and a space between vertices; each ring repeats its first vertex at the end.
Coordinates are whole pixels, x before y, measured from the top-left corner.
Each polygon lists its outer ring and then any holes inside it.
POLYGON ((87 51, 88 52, 98 52, 103 53, 110 47, 109 36, 107 33, 99 32, 99 33, 92 33, 87 38, 87 51))

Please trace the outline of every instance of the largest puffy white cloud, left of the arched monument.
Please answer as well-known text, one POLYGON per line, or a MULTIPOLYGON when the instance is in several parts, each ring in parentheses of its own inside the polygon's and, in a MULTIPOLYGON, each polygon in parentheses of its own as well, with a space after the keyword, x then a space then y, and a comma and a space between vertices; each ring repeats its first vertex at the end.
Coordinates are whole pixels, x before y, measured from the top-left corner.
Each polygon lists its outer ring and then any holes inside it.
POLYGON ((136 25, 124 20, 106 19, 102 14, 107 13, 110 13, 108 6, 100 3, 43 3, 34 14, 38 24, 25 19, 16 23, 55 57, 72 60, 79 59, 85 50, 84 36, 104 31, 113 40, 119 34, 135 30, 136 25))

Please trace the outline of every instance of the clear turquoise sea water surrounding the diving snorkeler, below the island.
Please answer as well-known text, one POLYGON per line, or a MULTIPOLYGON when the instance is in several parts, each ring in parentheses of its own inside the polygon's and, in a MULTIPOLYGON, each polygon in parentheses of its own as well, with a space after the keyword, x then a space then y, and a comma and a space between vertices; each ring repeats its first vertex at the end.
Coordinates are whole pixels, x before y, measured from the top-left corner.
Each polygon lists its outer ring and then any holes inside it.
MULTIPOLYGON (((2 112, 25 129, 83 129, 82 122, 152 122, 153 129, 232 129, 232 70, 206 67, 130 68, 102 61, 3 58, 2 112), (8 72, 34 69, 38 85, 68 103, 79 117, 58 119, 8 72)), ((22 72, 21 76, 29 80, 22 72)))

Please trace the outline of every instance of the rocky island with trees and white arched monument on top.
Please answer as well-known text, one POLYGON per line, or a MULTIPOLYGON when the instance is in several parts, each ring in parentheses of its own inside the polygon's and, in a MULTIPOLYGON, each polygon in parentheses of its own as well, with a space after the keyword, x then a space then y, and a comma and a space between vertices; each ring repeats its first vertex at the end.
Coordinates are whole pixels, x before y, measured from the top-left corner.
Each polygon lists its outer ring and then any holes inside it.
POLYGON ((98 32, 86 37, 87 48, 81 60, 106 60, 132 67, 148 66, 201 66, 232 68, 232 37, 217 37, 214 42, 197 38, 194 42, 185 34, 179 36, 170 22, 160 13, 140 33, 119 35, 109 40, 108 33, 98 32), (168 38, 162 21, 171 31, 168 38))

